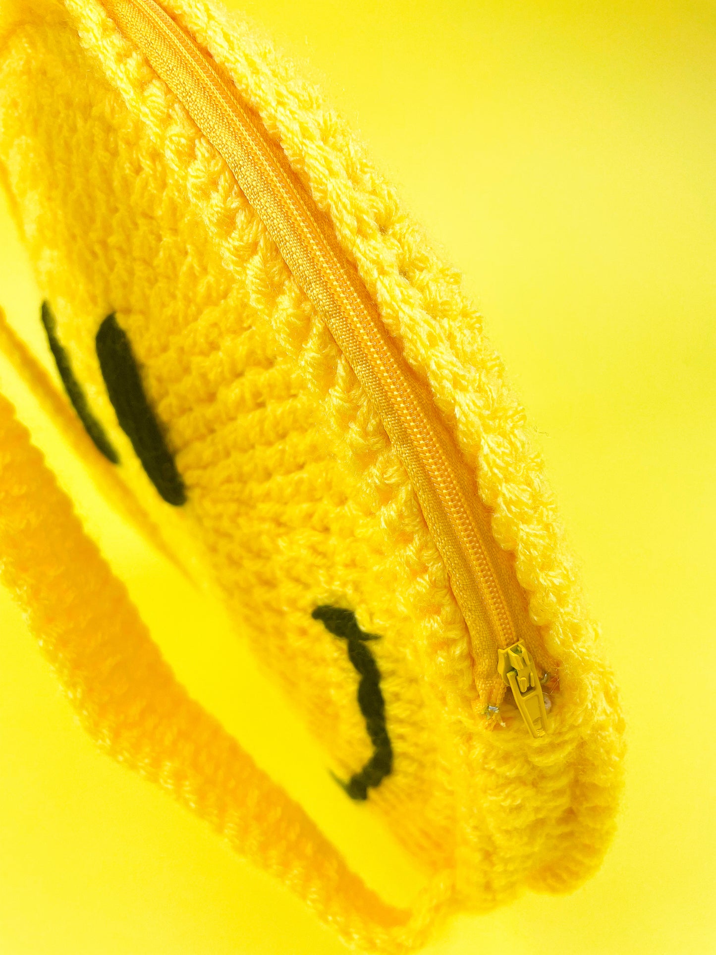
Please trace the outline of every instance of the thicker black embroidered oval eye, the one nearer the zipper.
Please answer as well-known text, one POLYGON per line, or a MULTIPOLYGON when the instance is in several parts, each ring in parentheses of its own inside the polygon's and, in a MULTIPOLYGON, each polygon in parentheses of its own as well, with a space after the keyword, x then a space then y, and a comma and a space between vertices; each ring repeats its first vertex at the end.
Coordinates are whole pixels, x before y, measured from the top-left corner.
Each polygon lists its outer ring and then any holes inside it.
POLYGON ((147 476, 164 500, 183 504, 184 482, 149 407, 132 346, 117 325, 114 312, 99 326, 95 348, 117 421, 132 442, 147 476))

